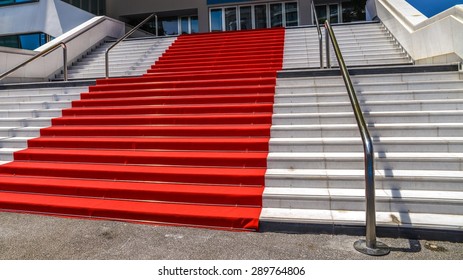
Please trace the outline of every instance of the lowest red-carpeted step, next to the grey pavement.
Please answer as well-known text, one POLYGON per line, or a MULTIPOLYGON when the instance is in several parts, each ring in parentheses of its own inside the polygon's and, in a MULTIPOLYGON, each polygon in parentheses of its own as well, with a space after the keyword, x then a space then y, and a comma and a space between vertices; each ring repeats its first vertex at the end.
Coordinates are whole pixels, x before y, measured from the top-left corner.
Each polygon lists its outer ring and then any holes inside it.
POLYGON ((2 193, 0 207, 28 213, 222 229, 254 230, 260 208, 2 193))

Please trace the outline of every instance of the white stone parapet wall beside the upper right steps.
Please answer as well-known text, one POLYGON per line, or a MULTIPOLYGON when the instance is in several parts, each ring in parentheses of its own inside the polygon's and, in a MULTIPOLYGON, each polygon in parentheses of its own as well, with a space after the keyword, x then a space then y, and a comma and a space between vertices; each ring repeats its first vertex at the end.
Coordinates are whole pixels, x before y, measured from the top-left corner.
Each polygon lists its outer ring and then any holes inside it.
POLYGON ((418 64, 463 61, 463 5, 427 18, 405 0, 376 0, 378 17, 418 64))

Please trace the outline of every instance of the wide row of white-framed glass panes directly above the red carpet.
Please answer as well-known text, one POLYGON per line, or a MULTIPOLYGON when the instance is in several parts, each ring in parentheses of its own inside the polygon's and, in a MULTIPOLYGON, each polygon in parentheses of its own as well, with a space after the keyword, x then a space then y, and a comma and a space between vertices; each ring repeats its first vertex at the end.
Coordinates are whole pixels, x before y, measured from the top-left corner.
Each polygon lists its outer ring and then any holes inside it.
POLYGON ((211 8, 209 16, 212 32, 299 25, 297 2, 211 8))

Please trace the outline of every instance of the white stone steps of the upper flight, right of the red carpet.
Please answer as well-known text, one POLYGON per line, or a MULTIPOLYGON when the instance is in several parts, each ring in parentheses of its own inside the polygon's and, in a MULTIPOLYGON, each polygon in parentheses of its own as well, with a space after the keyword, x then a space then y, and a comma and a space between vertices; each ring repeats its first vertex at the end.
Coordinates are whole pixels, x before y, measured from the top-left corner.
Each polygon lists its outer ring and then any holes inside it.
MULTIPOLYGON (((334 25, 347 66, 411 64, 408 55, 380 23, 334 25)), ((323 63, 326 66, 323 28, 323 63)), ((319 68, 319 43, 315 27, 286 30, 284 69, 319 68)), ((331 65, 337 60, 330 44, 331 65)))

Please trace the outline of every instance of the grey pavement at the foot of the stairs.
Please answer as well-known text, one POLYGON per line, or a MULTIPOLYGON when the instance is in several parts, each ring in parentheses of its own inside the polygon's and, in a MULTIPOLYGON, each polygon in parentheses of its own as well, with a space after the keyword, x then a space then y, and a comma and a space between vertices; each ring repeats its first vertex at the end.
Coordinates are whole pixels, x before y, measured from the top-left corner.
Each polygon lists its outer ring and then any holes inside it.
MULTIPOLYGON (((0 259, 169 260, 371 257, 356 236, 228 232, 110 221, 0 213, 0 259)), ((392 248, 379 259, 463 260, 463 243, 381 238, 392 248)), ((378 258, 374 258, 378 259, 378 258)))

